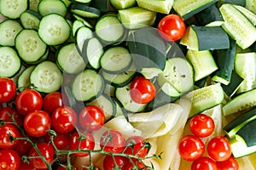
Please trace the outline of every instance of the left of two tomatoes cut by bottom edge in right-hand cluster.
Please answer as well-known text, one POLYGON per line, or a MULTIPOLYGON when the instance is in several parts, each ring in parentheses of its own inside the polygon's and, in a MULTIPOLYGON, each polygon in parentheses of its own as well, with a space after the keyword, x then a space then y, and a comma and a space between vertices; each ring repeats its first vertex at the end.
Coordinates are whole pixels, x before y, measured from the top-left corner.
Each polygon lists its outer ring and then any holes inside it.
POLYGON ((201 156, 193 161, 191 170, 217 170, 217 165, 210 157, 201 156))

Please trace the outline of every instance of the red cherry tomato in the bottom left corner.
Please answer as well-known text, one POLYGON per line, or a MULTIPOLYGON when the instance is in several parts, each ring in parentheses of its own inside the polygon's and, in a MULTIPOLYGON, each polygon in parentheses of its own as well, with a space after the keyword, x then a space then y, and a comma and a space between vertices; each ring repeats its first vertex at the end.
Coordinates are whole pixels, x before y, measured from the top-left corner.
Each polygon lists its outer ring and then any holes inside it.
POLYGON ((0 169, 19 170, 20 156, 15 150, 0 150, 0 169))

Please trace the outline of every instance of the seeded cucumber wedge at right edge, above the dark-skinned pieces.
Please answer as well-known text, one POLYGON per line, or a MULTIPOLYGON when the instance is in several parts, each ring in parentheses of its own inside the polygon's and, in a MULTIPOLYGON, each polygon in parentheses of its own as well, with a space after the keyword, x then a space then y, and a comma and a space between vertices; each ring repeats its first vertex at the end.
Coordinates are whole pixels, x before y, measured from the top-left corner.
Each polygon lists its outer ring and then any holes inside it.
POLYGON ((228 116, 239 111, 245 111, 256 105, 256 89, 247 91, 231 99, 223 106, 224 116, 228 116))

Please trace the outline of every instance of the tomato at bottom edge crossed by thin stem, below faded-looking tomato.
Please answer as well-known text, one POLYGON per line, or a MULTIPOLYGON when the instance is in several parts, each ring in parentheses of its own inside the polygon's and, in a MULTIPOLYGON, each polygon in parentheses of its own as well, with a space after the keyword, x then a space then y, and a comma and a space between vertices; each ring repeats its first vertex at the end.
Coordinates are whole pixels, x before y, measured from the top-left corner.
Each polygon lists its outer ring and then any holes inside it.
POLYGON ((129 159, 125 156, 107 155, 103 160, 103 167, 104 170, 119 169, 118 167, 123 167, 128 162, 129 159))

